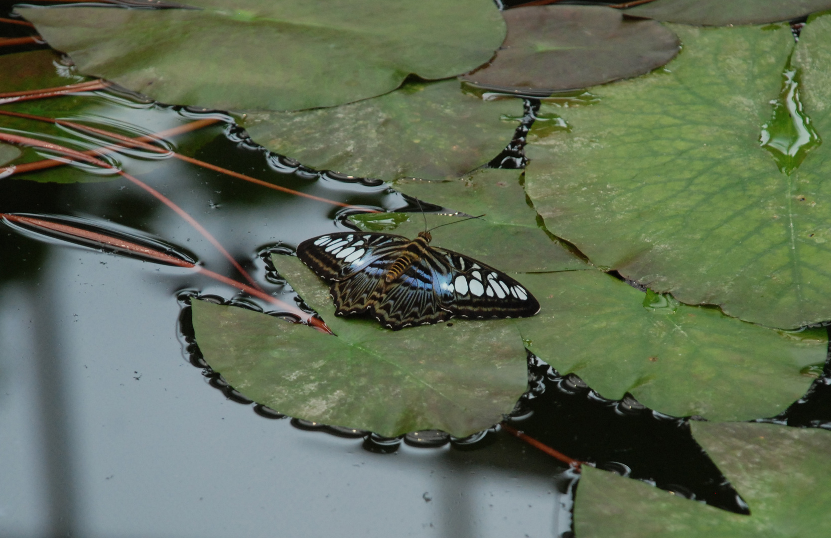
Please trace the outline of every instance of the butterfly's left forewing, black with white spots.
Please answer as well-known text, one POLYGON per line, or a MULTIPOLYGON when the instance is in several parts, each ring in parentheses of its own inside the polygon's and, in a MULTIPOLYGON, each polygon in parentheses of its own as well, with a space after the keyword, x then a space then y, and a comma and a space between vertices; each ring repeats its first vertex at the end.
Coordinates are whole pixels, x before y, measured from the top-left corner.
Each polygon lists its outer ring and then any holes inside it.
POLYGON ((392 256, 410 239, 401 235, 337 232, 312 237, 297 245, 297 257, 326 280, 347 279, 379 259, 392 256))

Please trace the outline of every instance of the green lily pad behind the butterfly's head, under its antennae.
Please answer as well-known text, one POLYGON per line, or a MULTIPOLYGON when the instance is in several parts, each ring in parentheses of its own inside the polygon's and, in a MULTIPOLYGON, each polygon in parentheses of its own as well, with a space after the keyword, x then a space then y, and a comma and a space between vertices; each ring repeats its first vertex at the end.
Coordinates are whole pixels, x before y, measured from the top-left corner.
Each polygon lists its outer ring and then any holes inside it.
MULTIPOLYGON (((396 190, 479 220, 442 226, 433 232, 434 246, 455 250, 502 271, 564 271, 587 269, 583 260, 564 249, 537 224, 537 213, 526 203, 521 170, 479 170, 463 180, 399 180, 396 190)), ((364 214, 352 222, 365 231, 388 231, 414 238, 427 227, 445 225, 450 215, 364 214)))

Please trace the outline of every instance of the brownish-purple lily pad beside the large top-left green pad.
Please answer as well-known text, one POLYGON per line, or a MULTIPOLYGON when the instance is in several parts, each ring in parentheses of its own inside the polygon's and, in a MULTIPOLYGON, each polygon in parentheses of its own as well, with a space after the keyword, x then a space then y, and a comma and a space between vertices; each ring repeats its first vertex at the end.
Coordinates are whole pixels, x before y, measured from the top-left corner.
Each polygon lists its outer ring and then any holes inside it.
POLYGON ((462 79, 522 95, 637 77, 678 53, 678 37, 659 22, 600 6, 532 6, 502 13, 508 37, 486 67, 462 79))

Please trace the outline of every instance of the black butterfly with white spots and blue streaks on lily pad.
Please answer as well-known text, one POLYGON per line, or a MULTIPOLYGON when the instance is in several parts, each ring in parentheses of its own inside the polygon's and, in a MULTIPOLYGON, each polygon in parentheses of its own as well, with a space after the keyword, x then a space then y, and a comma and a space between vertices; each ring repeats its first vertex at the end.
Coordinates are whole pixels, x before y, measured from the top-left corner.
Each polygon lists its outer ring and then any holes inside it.
POLYGON ((332 281, 337 315, 367 314, 398 330, 463 318, 524 318, 539 312, 516 280, 464 254, 416 239, 372 232, 339 232, 307 239, 297 257, 332 281))

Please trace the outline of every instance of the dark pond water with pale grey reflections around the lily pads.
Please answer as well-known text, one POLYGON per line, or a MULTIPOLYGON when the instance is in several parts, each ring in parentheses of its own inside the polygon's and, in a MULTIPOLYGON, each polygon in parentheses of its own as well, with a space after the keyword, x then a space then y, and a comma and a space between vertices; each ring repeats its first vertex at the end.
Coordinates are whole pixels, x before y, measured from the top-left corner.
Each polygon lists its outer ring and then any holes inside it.
MULTIPOLYGON (((184 155, 328 200, 415 209, 386 185, 297 168, 254 146, 220 113, 112 91, 58 97, 52 100, 56 111, 61 99, 83 101, 81 119, 130 136, 217 119, 167 143, 184 155)), ((101 145, 77 132, 54 136, 73 147, 101 145)), ((519 146, 498 161, 519 164, 519 146)), ((199 220, 269 293, 283 289, 268 278, 268 249, 293 249, 303 239, 348 230, 348 211, 337 206, 171 158, 140 152, 114 158, 199 220)), ((140 240, 152 237, 239 278, 184 220, 118 176, 66 169, 8 177, 0 180, 0 212, 52 215, 140 240), (97 180, 36 181, 73 177, 97 180)), ((0 474, 0 536, 571 532, 573 474, 498 427, 474 442, 416 447, 397 441, 385 450, 382 440, 337 437, 288 417, 263 417, 268 413, 253 412, 253 404, 227 397, 214 378, 194 368, 186 297, 271 305, 241 298, 192 269, 106 254, 31 230, 4 227, 0 252, 0 458, 7 462, 0 474)), ((514 426, 569 456, 744 510, 685 420, 631 399, 606 400, 534 357, 529 373, 531 390, 514 412, 514 426)), ((829 391, 822 387, 818 383, 791 411, 794 425, 831 419, 829 391)))

